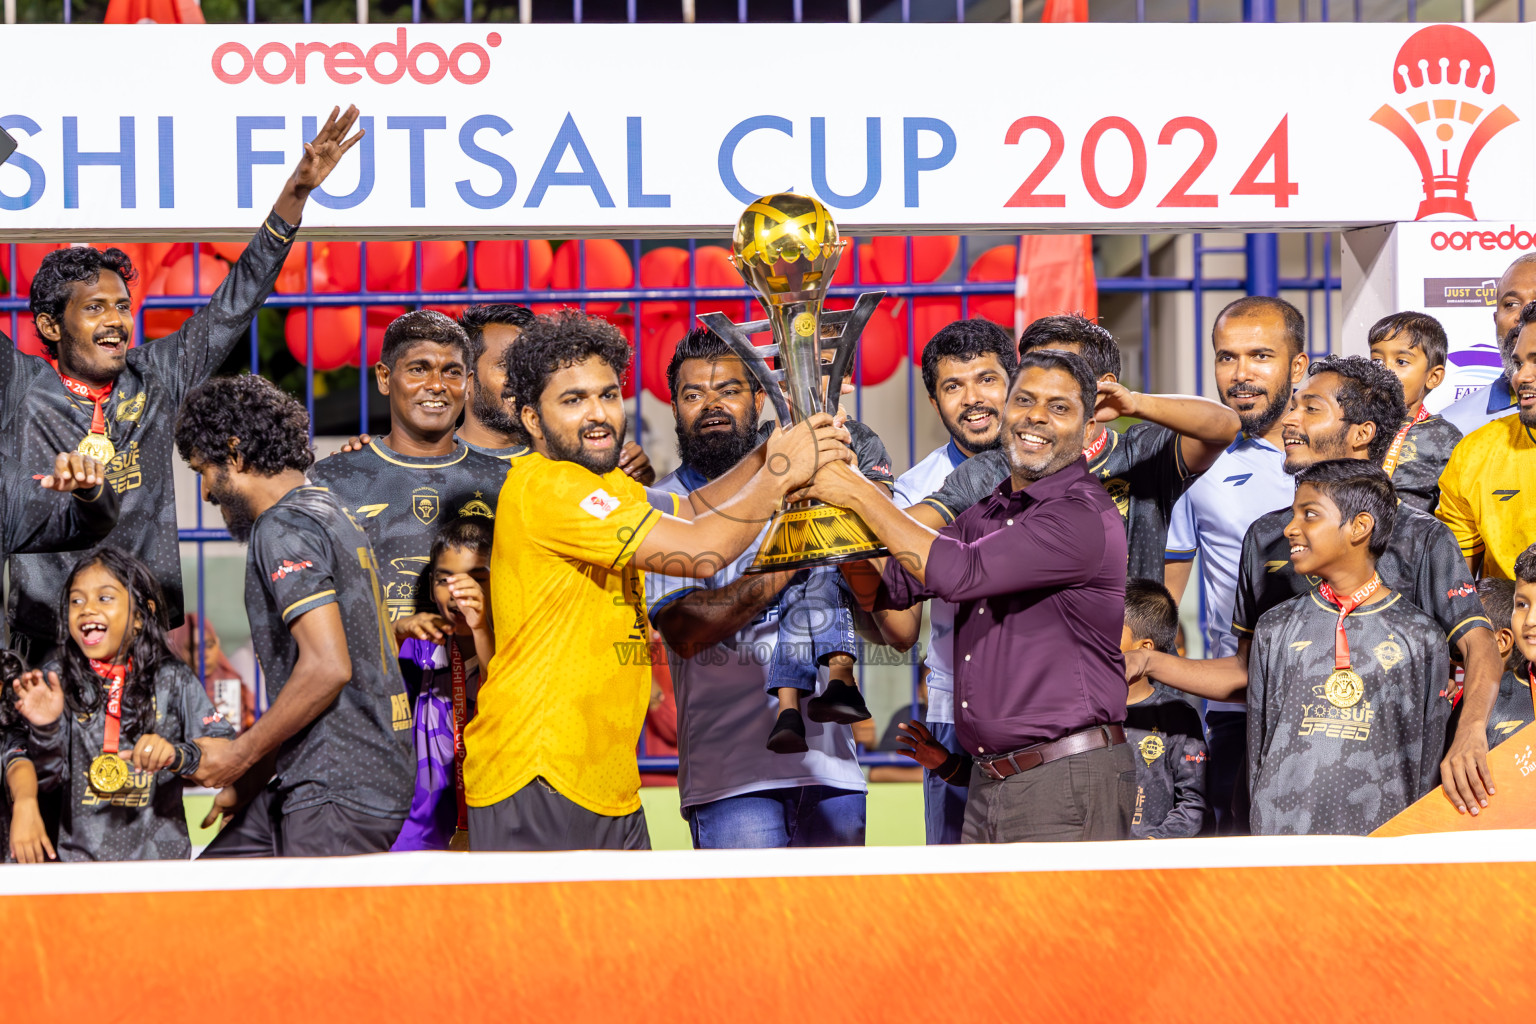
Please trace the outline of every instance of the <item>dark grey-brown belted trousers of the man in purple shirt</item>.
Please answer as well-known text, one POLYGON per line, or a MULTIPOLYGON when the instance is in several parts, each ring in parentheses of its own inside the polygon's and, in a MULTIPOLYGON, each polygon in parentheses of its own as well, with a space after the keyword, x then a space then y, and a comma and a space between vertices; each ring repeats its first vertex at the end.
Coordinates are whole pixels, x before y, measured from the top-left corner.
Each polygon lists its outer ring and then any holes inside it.
POLYGON ((971 772, 962 843, 1075 843, 1130 838, 1137 763, 1129 743, 1084 751, 1009 775, 971 772))

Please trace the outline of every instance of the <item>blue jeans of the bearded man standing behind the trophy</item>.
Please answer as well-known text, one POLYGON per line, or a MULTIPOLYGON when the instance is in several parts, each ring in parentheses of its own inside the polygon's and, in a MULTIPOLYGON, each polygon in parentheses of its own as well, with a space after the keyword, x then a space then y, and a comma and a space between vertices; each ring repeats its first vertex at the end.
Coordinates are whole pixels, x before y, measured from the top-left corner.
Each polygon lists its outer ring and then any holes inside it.
POLYGON ((685 808, 693 847, 863 846, 865 795, 831 786, 763 789, 685 808))

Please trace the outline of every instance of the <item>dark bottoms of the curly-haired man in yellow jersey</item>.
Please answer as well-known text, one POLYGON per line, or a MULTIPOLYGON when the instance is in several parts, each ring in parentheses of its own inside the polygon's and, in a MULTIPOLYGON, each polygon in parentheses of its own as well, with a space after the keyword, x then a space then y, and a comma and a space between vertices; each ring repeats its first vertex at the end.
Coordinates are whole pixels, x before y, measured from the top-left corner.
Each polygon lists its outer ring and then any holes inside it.
POLYGON ((470 808, 472 851, 648 851, 645 811, 588 811, 544 778, 488 808, 470 808))

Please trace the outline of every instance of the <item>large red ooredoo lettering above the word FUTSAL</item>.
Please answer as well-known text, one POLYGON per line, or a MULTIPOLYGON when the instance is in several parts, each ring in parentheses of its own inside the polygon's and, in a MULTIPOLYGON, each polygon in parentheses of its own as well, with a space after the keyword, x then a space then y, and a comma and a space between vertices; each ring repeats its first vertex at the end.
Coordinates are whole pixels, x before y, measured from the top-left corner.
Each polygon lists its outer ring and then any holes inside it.
POLYGON ((350 86, 369 80, 387 86, 410 77, 412 81, 424 86, 442 81, 449 75, 465 86, 473 86, 490 74, 490 52, 485 48, 501 46, 501 32, 485 37, 485 46, 479 43, 459 43, 452 51, 445 51, 436 43, 416 43, 406 38, 406 29, 395 29, 393 43, 378 43, 367 52, 356 43, 263 43, 252 54, 241 43, 224 43, 214 51, 214 77, 220 81, 238 86, 249 81, 252 75, 278 86, 286 81, 304 84, 313 69, 324 71, 326 77, 339 86, 350 86), (313 61, 312 58, 318 58, 313 61))

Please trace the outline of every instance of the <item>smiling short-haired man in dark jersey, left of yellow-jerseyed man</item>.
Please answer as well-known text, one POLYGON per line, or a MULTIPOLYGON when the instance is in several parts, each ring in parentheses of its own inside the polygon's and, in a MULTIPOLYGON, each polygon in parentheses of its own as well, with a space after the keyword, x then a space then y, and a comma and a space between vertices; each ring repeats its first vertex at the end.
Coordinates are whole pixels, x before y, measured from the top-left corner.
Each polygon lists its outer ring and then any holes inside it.
POLYGON ((321 459, 309 473, 367 531, 399 639, 438 643, 445 636, 422 579, 432 540, 453 519, 495 519, 507 476, 505 461, 453 436, 472 379, 468 348, 464 329, 442 313, 416 310, 395 319, 373 367, 389 398, 390 431, 321 459))

